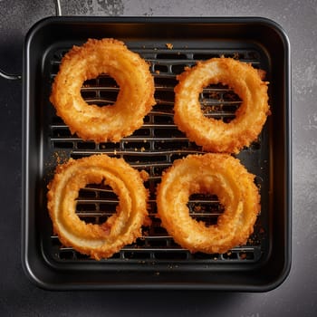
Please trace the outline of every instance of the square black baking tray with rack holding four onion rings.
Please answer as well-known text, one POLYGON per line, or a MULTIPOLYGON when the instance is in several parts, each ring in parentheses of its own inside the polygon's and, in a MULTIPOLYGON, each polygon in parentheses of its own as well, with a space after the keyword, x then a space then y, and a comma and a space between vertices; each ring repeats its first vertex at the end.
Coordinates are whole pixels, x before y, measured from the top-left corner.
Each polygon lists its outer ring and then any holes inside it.
MULTIPOLYGON (((290 48, 283 29, 258 17, 50 17, 29 31, 23 73, 23 247, 24 271, 38 286, 51 289, 200 289, 264 292, 283 282, 291 266, 291 101, 290 48), (118 143, 85 142, 72 135, 49 101, 62 55, 88 38, 112 37, 149 61, 157 105, 144 126, 118 143), (251 62, 270 82, 272 115, 259 138, 237 157, 256 175, 262 212, 246 245, 224 255, 190 254, 159 226, 155 187, 174 159, 202 149, 173 122, 176 75, 186 66, 215 56, 251 62), (146 169, 152 225, 135 244, 110 259, 94 261, 60 244, 46 209, 47 184, 54 168, 69 158, 95 153, 127 160, 146 169)), ((106 75, 85 82, 87 102, 116 99, 119 88, 106 75)), ((239 99, 228 87, 201 93, 206 115, 234 116, 239 99), (207 106, 206 106, 207 105, 207 106)), ((115 210, 108 188, 86 187, 77 213, 101 223, 115 210)), ((191 197, 191 215, 207 224, 221 213, 217 202, 191 197)))

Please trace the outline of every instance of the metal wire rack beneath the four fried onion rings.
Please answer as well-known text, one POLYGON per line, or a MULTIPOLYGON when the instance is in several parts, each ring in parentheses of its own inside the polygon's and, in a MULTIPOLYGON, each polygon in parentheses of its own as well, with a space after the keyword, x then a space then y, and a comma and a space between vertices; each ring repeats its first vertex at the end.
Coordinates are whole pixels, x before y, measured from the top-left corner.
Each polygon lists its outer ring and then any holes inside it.
MULTIPOLYGON (((188 48, 145 48, 136 46, 130 48, 139 53, 149 62, 150 71, 155 81, 155 99, 157 104, 144 119, 143 126, 130 137, 121 139, 118 143, 100 143, 83 141, 72 135, 68 127, 52 112, 49 118, 48 131, 49 147, 52 162, 48 164, 48 178, 52 177, 53 168, 66 159, 79 159, 91 154, 105 153, 112 157, 125 159, 133 168, 144 169, 149 173, 149 180, 145 186, 149 188, 149 216, 152 223, 143 228, 144 235, 135 244, 126 245, 119 253, 110 259, 101 260, 105 263, 121 262, 207 262, 207 263, 255 263, 264 253, 267 228, 261 215, 255 225, 255 233, 250 236, 246 245, 235 247, 226 254, 207 255, 191 254, 177 245, 173 238, 160 226, 156 216, 156 187, 160 182, 162 172, 172 165, 175 159, 186 157, 188 154, 203 153, 203 150, 194 142, 187 139, 173 120, 174 87, 177 84, 177 75, 187 66, 197 61, 212 57, 226 56, 250 62, 255 68, 263 68, 261 56, 255 50, 207 50, 188 48)), ((48 59, 49 76, 51 82, 58 72, 62 55, 68 48, 55 50, 48 59)), ((112 104, 120 87, 112 78, 102 74, 98 78, 84 82, 82 97, 88 103, 97 105, 112 104)), ((200 93, 200 103, 207 117, 217 120, 232 120, 235 110, 241 100, 226 86, 220 84, 210 85, 200 93)), ((51 106, 52 107, 52 106, 51 106)), ((53 107, 52 107, 53 108, 53 107)), ((247 149, 239 154, 246 168, 254 169, 256 185, 261 189, 263 178, 261 170, 264 165, 262 152, 263 132, 247 149)), ((251 170, 253 171, 253 170, 251 170)), ((112 215, 118 205, 118 197, 110 187, 89 185, 82 188, 77 200, 77 215, 88 223, 101 224, 112 215)), ((206 226, 216 224, 217 217, 223 212, 217 197, 212 195, 192 195, 188 202, 190 216, 204 221, 206 226)), ((53 232, 47 236, 49 239, 48 252, 56 261, 62 263, 93 262, 86 255, 81 255, 69 247, 61 245, 53 232)))

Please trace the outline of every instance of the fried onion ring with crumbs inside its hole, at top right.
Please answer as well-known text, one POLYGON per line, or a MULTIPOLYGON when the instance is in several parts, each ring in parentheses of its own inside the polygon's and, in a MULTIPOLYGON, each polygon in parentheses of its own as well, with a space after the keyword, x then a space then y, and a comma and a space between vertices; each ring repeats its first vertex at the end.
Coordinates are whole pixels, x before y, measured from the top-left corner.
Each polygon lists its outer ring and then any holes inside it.
POLYGON ((237 153, 250 145, 263 129, 270 114, 267 84, 250 64, 232 58, 212 58, 197 62, 178 75, 175 87, 175 123, 204 150, 237 153), (198 101, 199 93, 209 84, 231 87, 242 99, 235 119, 226 123, 204 116, 198 101))

